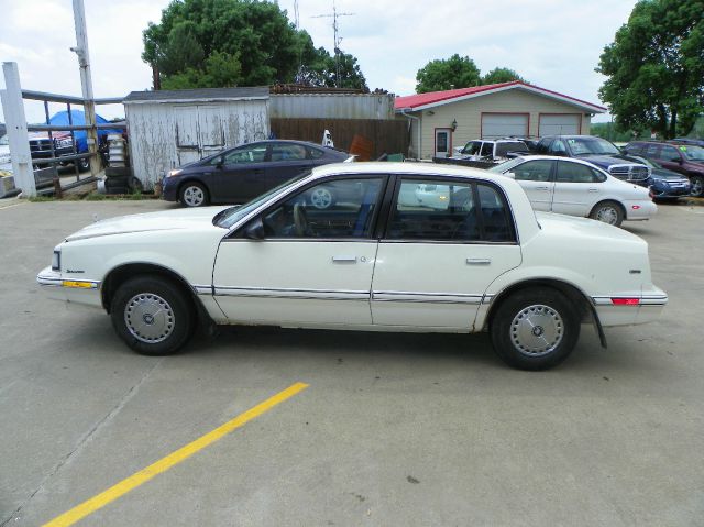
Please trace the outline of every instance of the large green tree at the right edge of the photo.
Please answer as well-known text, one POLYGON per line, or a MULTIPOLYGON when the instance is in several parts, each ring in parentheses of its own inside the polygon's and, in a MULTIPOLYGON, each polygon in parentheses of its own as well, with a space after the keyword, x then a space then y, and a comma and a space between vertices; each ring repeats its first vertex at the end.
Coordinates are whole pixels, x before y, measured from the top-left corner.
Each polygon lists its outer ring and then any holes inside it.
POLYGON ((704 112, 704 0, 640 0, 604 48, 600 89, 622 129, 689 133, 704 112))

